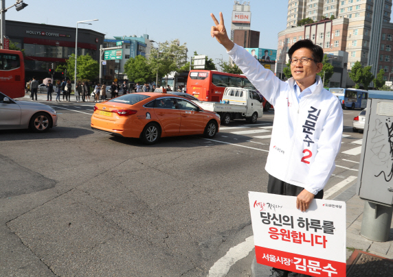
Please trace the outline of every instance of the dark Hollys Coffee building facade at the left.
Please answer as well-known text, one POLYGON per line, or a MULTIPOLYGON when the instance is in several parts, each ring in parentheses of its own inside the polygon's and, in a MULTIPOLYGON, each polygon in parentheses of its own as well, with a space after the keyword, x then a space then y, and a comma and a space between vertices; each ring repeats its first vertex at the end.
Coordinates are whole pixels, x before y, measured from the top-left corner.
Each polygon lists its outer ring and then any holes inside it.
MULTIPOLYGON (((49 69, 56 69, 75 53, 76 28, 21 21, 5 21, 5 26, 5 35, 17 47, 25 49, 26 81, 33 76, 39 80, 51 77, 49 69)), ((104 34, 78 28, 78 56, 89 54, 99 61, 103 43, 104 34)))

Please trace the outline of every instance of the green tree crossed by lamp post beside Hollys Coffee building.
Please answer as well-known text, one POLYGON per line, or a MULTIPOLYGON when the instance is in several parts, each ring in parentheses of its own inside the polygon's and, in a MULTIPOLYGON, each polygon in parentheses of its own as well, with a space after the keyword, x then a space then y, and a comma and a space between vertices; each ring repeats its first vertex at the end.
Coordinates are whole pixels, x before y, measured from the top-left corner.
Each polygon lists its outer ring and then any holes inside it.
MULTIPOLYGON (((100 73, 100 65, 96 60, 93 60, 89 54, 78 56, 76 60, 76 77, 78 80, 91 81, 98 77, 100 73)), ((65 62, 56 67, 57 72, 67 70, 67 77, 74 80, 75 70, 75 54, 71 54, 71 57, 65 62)))

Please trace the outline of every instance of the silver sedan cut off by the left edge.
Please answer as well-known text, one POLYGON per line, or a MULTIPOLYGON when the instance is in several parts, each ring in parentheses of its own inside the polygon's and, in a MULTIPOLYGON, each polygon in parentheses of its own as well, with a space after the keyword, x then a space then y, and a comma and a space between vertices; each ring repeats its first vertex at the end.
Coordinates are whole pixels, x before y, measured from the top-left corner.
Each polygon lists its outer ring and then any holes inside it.
POLYGON ((54 108, 41 103, 14 100, 0 93, 0 130, 30 129, 41 133, 56 125, 54 108))

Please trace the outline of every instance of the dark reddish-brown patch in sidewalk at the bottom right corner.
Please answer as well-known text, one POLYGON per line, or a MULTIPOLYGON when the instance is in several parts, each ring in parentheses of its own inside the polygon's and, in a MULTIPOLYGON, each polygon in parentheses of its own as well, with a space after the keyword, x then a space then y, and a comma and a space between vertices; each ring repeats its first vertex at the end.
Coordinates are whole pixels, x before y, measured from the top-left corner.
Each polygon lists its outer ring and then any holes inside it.
POLYGON ((347 261, 346 276, 393 276, 393 260, 355 250, 347 261))

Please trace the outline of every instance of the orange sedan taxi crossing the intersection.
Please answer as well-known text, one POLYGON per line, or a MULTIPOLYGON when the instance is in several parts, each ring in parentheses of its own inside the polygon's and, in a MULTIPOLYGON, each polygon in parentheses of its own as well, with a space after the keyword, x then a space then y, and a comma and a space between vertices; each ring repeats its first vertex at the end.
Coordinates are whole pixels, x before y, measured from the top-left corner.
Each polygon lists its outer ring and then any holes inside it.
POLYGON ((166 93, 131 93, 96 104, 91 128, 146 144, 160 137, 204 134, 212 139, 218 132, 220 117, 203 110, 192 101, 166 93))

